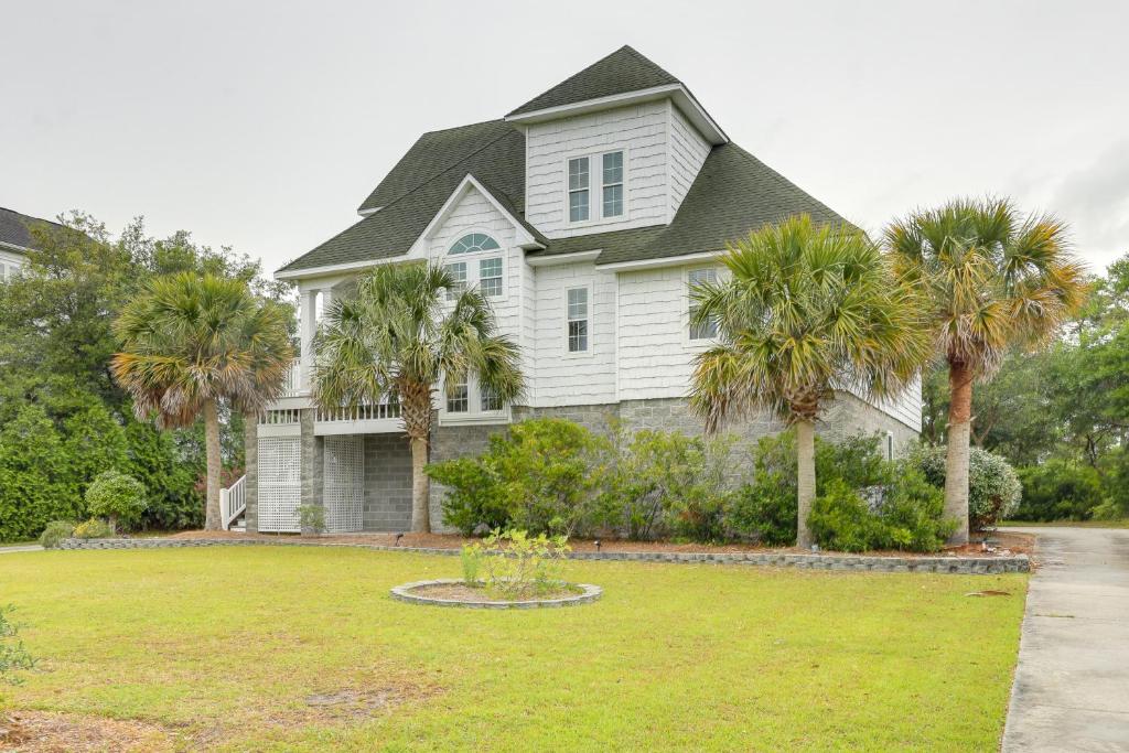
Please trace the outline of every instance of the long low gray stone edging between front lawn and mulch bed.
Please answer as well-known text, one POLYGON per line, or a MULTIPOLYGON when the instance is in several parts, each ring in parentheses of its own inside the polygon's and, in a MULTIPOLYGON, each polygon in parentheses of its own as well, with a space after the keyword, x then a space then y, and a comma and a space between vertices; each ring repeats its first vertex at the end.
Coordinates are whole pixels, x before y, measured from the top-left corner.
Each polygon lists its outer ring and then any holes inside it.
MULTIPOLYGON (((345 546, 379 552, 457 555, 457 549, 391 546, 387 544, 318 543, 316 540, 259 539, 64 539, 60 549, 184 549, 194 546, 345 546)), ((1001 575, 1030 572, 1026 554, 995 557, 866 557, 863 554, 791 554, 787 552, 569 552, 572 560, 625 562, 679 562, 752 564, 809 570, 855 570, 870 572, 939 572, 952 575, 1001 575)))

